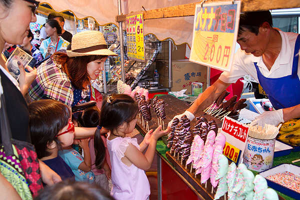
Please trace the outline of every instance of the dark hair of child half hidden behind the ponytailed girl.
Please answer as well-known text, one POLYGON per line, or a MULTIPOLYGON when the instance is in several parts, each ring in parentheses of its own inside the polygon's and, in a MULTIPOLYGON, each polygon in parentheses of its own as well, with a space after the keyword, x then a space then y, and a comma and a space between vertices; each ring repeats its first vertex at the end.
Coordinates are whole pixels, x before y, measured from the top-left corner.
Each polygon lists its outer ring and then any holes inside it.
POLYGON ((88 107, 78 114, 78 122, 83 127, 96 127, 99 124, 99 115, 100 110, 96 105, 88 107))

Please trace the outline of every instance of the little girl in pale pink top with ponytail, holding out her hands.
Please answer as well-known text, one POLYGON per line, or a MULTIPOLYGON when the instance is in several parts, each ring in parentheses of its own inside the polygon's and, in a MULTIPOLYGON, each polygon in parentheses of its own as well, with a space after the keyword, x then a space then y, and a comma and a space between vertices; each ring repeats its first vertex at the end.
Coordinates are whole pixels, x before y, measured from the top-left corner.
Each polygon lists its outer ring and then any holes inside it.
MULTIPOLYGON (((150 168, 156 142, 159 137, 169 130, 161 130, 158 126, 154 131, 149 130, 143 141, 138 145, 136 138, 126 137, 135 127, 138 106, 131 96, 112 94, 103 100, 99 126, 109 130, 107 149, 111 162, 110 194, 116 199, 145 200, 150 195, 150 185, 144 170, 150 168), (148 146, 145 154, 142 152, 148 146)), ((97 151, 102 142, 99 130, 94 136, 96 150, 95 164, 101 164, 101 151, 97 151)))

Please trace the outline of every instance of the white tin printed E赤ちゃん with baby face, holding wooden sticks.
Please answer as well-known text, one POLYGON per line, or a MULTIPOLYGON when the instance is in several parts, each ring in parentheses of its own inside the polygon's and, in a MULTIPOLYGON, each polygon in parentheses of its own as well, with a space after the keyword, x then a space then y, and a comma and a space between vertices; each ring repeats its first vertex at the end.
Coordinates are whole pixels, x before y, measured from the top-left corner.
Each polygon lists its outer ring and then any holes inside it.
POLYGON ((256 139, 248 136, 243 154, 243 163, 248 169, 258 172, 271 168, 273 165, 274 147, 275 138, 256 139))

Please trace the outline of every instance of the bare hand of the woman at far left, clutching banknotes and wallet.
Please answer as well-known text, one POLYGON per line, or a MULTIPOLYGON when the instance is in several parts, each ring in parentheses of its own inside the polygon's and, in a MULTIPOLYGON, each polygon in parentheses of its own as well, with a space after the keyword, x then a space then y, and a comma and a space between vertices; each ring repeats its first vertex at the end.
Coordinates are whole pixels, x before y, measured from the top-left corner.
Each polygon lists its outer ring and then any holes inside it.
POLYGON ((17 61, 17 66, 20 69, 20 76, 18 78, 20 91, 23 95, 25 95, 30 84, 36 77, 36 68, 33 69, 28 65, 26 65, 24 68, 23 64, 20 61, 17 61), (28 72, 26 72, 25 69, 27 69, 28 72))

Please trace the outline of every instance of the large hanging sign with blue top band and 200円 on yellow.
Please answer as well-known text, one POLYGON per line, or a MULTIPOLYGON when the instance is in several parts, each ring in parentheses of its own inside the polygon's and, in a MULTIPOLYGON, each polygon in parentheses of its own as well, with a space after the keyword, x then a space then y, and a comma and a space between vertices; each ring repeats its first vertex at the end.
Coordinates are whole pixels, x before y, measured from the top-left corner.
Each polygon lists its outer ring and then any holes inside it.
POLYGON ((231 68, 240 1, 196 4, 189 60, 223 71, 231 68))

